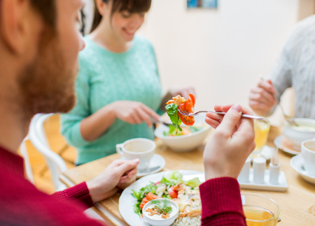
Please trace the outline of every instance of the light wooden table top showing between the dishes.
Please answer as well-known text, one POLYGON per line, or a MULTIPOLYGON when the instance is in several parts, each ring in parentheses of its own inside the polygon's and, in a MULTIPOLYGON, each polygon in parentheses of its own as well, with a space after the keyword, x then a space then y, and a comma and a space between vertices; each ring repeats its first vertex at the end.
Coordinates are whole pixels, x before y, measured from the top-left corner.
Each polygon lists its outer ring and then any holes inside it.
MULTIPOLYGON (((281 130, 279 128, 272 127, 267 144, 269 146, 274 146, 273 140, 280 134, 281 130)), ((204 145, 199 146, 195 151, 176 153, 170 151, 163 145, 161 140, 156 140, 156 143, 156 153, 163 156, 166 160, 166 165, 163 170, 191 169, 204 171, 202 163, 204 145)), ((274 199, 281 209, 281 222, 278 223, 279 226, 315 225, 315 213, 308 213, 308 209, 315 205, 315 186, 304 181, 304 179, 290 167, 290 158, 292 157, 292 155, 286 152, 279 151, 279 161, 281 164, 280 170, 285 172, 288 181, 288 190, 286 190, 286 192, 281 193, 260 190, 241 190, 241 192, 258 193, 274 199)), ((74 186, 97 176, 107 165, 109 165, 109 163, 118 158, 120 158, 118 154, 113 154, 106 158, 101 158, 91 163, 74 167, 62 174, 60 179, 66 186, 74 186)), ((110 225, 128 225, 119 213, 119 197, 120 193, 95 204, 94 210, 97 211, 97 213, 99 213, 99 215, 110 225)), ((132 208, 132 206, 130 206, 130 208, 132 208)))

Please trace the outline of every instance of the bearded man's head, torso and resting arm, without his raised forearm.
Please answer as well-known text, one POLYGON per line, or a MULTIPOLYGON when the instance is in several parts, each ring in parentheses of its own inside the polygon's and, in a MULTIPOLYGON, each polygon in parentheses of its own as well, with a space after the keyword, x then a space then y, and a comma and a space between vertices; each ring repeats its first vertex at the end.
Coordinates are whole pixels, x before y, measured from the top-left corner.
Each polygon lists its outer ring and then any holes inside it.
POLYGON ((136 179, 139 160, 114 161, 53 195, 24 177, 18 147, 37 113, 73 107, 81 0, 0 0, 0 225, 99 225, 83 211, 136 179), (127 173, 126 173, 127 172, 127 173))

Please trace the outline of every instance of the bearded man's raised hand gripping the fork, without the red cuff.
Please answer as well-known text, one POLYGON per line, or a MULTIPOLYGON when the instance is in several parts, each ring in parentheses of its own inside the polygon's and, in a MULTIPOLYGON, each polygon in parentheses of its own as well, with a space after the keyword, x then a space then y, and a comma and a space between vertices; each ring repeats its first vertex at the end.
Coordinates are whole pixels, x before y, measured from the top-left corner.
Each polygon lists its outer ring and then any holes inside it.
POLYGON ((253 119, 241 118, 241 114, 253 113, 240 105, 216 105, 214 110, 228 113, 207 113, 206 123, 216 130, 204 149, 206 179, 237 179, 246 158, 255 149, 253 119))

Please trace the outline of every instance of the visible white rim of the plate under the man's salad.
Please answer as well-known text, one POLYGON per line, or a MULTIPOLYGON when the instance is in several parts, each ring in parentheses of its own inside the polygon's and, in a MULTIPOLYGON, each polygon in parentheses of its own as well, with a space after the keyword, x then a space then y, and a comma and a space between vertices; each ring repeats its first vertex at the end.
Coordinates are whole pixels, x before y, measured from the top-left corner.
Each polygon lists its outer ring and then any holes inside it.
MULTIPOLYGON (((159 172, 157 174, 151 174, 148 176, 144 176, 138 181, 132 183, 131 186, 123 190, 123 193, 119 198, 119 211, 121 216, 123 216, 124 220, 132 225, 132 226, 150 226, 142 220, 137 213, 134 213, 134 204, 137 203, 137 199, 135 199, 132 194, 132 189, 140 190, 141 188, 147 186, 150 182, 158 182, 162 180, 162 177, 165 174, 168 174, 170 171, 159 172)), ((179 170, 181 174, 183 174, 184 180, 193 179, 198 176, 201 182, 204 182, 204 172, 193 171, 193 170, 179 170)))

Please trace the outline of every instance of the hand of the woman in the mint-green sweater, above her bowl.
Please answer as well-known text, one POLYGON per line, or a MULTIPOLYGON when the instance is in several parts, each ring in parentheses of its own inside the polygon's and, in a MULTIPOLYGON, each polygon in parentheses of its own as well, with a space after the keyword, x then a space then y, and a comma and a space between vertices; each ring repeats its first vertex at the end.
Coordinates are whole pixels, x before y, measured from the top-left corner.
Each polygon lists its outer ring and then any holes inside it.
POLYGON ((137 101, 118 100, 111 104, 111 109, 115 112, 116 118, 132 125, 145 122, 151 127, 153 126, 151 117, 156 121, 160 120, 160 115, 150 107, 137 101))

